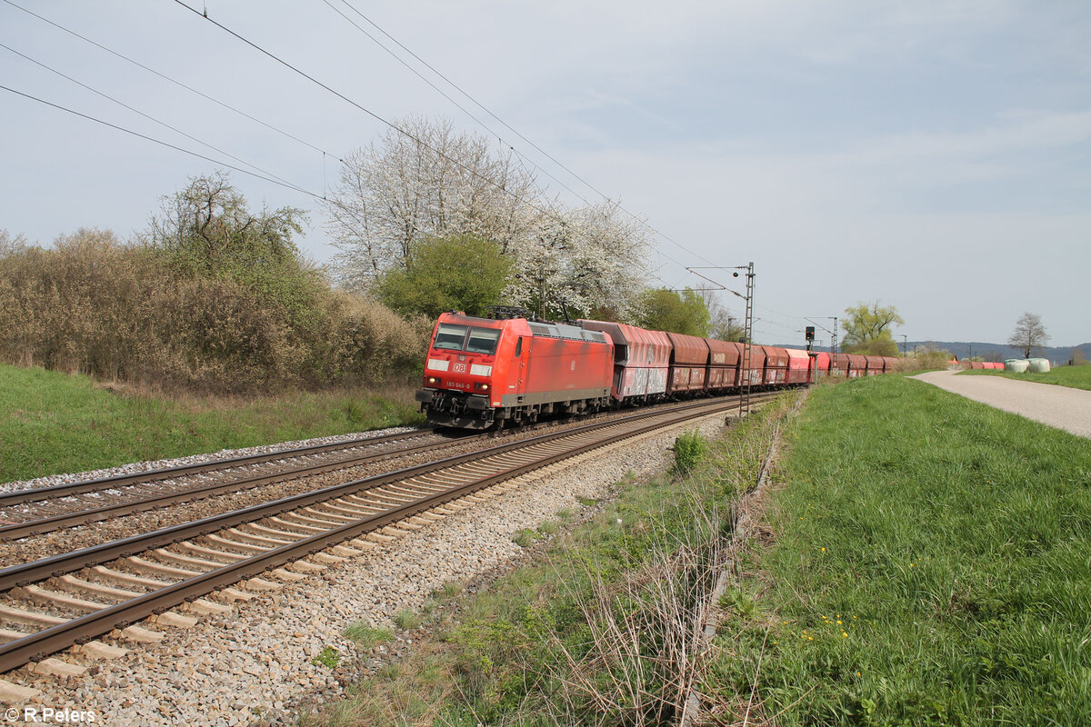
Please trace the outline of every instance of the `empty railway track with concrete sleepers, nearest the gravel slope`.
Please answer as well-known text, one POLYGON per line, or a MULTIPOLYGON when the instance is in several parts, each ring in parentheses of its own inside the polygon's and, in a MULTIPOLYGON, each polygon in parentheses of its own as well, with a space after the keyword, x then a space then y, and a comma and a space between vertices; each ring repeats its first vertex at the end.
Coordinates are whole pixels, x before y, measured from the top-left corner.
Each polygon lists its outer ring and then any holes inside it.
POLYGON ((202 596, 280 589, 499 494, 526 472, 735 405, 702 401, 532 436, 2 569, 0 673, 116 629, 133 640, 161 639, 130 625, 149 616, 192 623, 170 609, 226 610, 202 596))

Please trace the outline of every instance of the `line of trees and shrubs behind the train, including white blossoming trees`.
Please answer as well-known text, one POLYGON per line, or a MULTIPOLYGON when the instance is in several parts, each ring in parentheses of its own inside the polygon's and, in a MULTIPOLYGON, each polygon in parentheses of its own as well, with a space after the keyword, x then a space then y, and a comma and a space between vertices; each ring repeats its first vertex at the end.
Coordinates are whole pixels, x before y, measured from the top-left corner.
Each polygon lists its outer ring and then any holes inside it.
MULTIPOLYGON (((715 299, 649 284, 650 228, 619 204, 564 204, 449 122, 398 125, 408 134, 348 154, 321 203, 337 249, 325 268, 295 242, 305 210, 253 210, 221 172, 164 197, 128 241, 81 229, 41 247, 0 231, 0 356, 223 389, 380 380, 419 366, 441 312, 496 304, 743 339, 715 299)), ((894 306, 846 314, 841 350, 897 355, 894 306)))

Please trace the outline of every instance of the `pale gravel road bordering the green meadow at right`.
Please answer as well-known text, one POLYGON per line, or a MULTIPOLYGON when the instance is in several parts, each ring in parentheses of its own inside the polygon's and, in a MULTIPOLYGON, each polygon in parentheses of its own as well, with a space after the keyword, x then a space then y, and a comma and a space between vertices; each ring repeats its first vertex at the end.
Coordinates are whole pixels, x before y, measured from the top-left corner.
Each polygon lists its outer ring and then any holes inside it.
POLYGON ((1091 437, 1091 391, 1000 376, 956 376, 957 373, 933 371, 912 378, 1080 437, 1091 437))

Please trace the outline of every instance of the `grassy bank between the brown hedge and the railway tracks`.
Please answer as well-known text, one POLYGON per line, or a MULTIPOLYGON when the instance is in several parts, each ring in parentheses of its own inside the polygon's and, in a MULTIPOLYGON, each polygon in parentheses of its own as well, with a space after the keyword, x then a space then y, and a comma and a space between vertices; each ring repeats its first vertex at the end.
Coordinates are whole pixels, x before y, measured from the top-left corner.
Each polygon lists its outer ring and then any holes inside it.
POLYGON ((411 397, 400 399, 363 390, 168 399, 0 364, 0 482, 421 421, 411 397))

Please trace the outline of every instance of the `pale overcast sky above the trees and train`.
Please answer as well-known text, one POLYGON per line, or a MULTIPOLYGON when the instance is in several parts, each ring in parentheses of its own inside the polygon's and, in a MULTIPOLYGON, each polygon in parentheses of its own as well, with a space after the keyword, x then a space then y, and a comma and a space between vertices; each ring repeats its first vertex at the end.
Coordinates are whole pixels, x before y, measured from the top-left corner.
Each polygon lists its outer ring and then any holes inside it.
MULTIPOLYGON (((0 85, 319 196, 336 158, 384 129, 173 0, 11 2, 4 46, 219 150, 5 48, 0 85)), ((384 119, 485 133, 338 15, 377 35, 343 0, 187 2, 384 119)), ((704 284, 686 266, 753 260, 760 342, 802 343, 803 316, 829 326, 817 316, 875 300, 904 317, 899 340, 1003 342, 1030 311, 1053 344, 1091 341, 1087 0, 350 2, 669 238, 652 266, 671 287, 704 284)), ((544 171, 596 198, 494 126, 551 191, 576 201, 544 171)), ((80 227, 127 238, 163 195, 224 168, 7 90, 0 140, 0 229, 41 243, 80 227)), ((336 252, 312 196, 231 179, 254 207, 314 210, 301 246, 336 252)))

